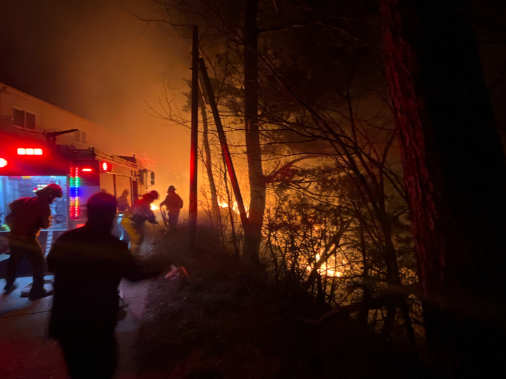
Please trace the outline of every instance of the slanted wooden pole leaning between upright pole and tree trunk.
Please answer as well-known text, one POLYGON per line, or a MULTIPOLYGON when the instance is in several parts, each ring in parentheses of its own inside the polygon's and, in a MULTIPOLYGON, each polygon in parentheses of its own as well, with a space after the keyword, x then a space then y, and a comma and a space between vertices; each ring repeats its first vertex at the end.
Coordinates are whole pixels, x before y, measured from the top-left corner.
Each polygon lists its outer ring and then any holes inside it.
MULTIPOLYGON (((244 206, 244 202, 242 201, 242 196, 240 193, 239 182, 237 176, 235 175, 235 170, 233 168, 232 157, 230 154, 230 150, 228 149, 228 144, 225 138, 225 132, 223 131, 223 125, 221 125, 221 118, 218 112, 218 105, 216 105, 216 100, 214 99, 214 92, 211 86, 211 81, 209 80, 209 75, 207 75, 207 68, 205 67, 205 62, 202 58, 199 59, 200 71, 202 72, 202 79, 204 79, 204 84, 207 92, 207 99, 209 100, 209 105, 211 105, 211 109, 214 116, 214 124, 216 124, 216 131, 218 131, 218 136, 221 145, 221 151, 223 152, 223 157, 225 157, 225 164, 228 169, 228 175, 230 175, 232 182, 232 189, 235 196, 235 201, 238 203, 239 215, 242 222, 242 228, 246 229, 248 224, 247 214, 244 206)), ((232 206, 232 204, 228 204, 228 206, 232 206)))

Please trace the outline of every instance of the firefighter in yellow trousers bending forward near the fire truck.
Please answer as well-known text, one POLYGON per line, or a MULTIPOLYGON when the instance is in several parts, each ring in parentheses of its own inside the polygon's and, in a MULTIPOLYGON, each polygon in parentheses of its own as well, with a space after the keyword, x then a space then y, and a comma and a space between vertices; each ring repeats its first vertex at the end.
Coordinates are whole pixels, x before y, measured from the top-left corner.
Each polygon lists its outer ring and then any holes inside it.
POLYGON ((143 225, 148 221, 151 224, 158 224, 155 220, 155 213, 151 211, 151 203, 158 199, 158 192, 150 191, 143 194, 142 199, 136 201, 128 211, 124 212, 122 227, 130 239, 130 251, 138 255, 144 239, 143 225))

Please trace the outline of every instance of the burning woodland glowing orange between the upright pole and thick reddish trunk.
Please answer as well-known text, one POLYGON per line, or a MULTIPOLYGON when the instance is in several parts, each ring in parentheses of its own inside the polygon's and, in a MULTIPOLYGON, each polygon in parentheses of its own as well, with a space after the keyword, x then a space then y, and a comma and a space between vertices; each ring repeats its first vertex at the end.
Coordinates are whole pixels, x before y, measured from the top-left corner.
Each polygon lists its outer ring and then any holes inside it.
MULTIPOLYGON (((170 1, 168 16, 174 24, 209 25, 200 49, 214 93, 201 65, 200 204, 223 246, 264 267, 271 280, 297 283, 321 309, 360 304, 353 318, 415 346, 423 334, 412 321, 421 322, 420 303, 408 290, 416 260, 375 11, 330 3, 295 11, 289 2, 279 11, 249 1, 242 15, 258 22, 242 25, 218 15, 231 4, 212 15, 204 1, 190 3, 170 1), (321 20, 313 22, 316 15, 321 20), (298 22, 306 27, 291 26, 298 22), (216 122, 240 178, 246 225, 216 122), (392 286, 399 300, 377 302, 392 286)), ((177 95, 167 92, 167 105, 152 111, 188 124, 171 109, 177 95)))

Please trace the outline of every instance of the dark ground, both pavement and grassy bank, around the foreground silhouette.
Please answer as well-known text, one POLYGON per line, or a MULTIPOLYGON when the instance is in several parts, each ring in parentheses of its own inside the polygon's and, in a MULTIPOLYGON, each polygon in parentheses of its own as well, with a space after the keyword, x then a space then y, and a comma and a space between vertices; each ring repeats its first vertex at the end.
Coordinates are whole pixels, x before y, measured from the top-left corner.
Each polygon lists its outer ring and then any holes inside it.
MULTIPOLYGON (((205 231, 200 239, 205 248, 195 254, 184 230, 147 241, 164 274, 172 263, 188 278, 120 285, 128 306, 117 326, 118 379, 422 376, 406 354, 349 319, 308 322, 317 313, 305 293, 266 284, 205 231)), ((19 291, 1 298, 0 378, 67 378, 58 344, 46 337, 51 297, 30 302, 19 291)))

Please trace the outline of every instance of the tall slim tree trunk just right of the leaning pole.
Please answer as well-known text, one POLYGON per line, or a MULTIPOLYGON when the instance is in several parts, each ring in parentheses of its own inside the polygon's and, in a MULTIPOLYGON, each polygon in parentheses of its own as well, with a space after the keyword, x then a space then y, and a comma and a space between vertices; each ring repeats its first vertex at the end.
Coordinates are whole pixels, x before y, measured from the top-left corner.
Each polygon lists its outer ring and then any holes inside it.
POLYGON ((264 220, 266 183, 262 171, 258 120, 258 58, 257 29, 258 0, 246 0, 244 22, 244 74, 245 74, 245 135, 249 174, 249 225, 245 227, 243 254, 254 266, 259 265, 261 228, 264 220))

